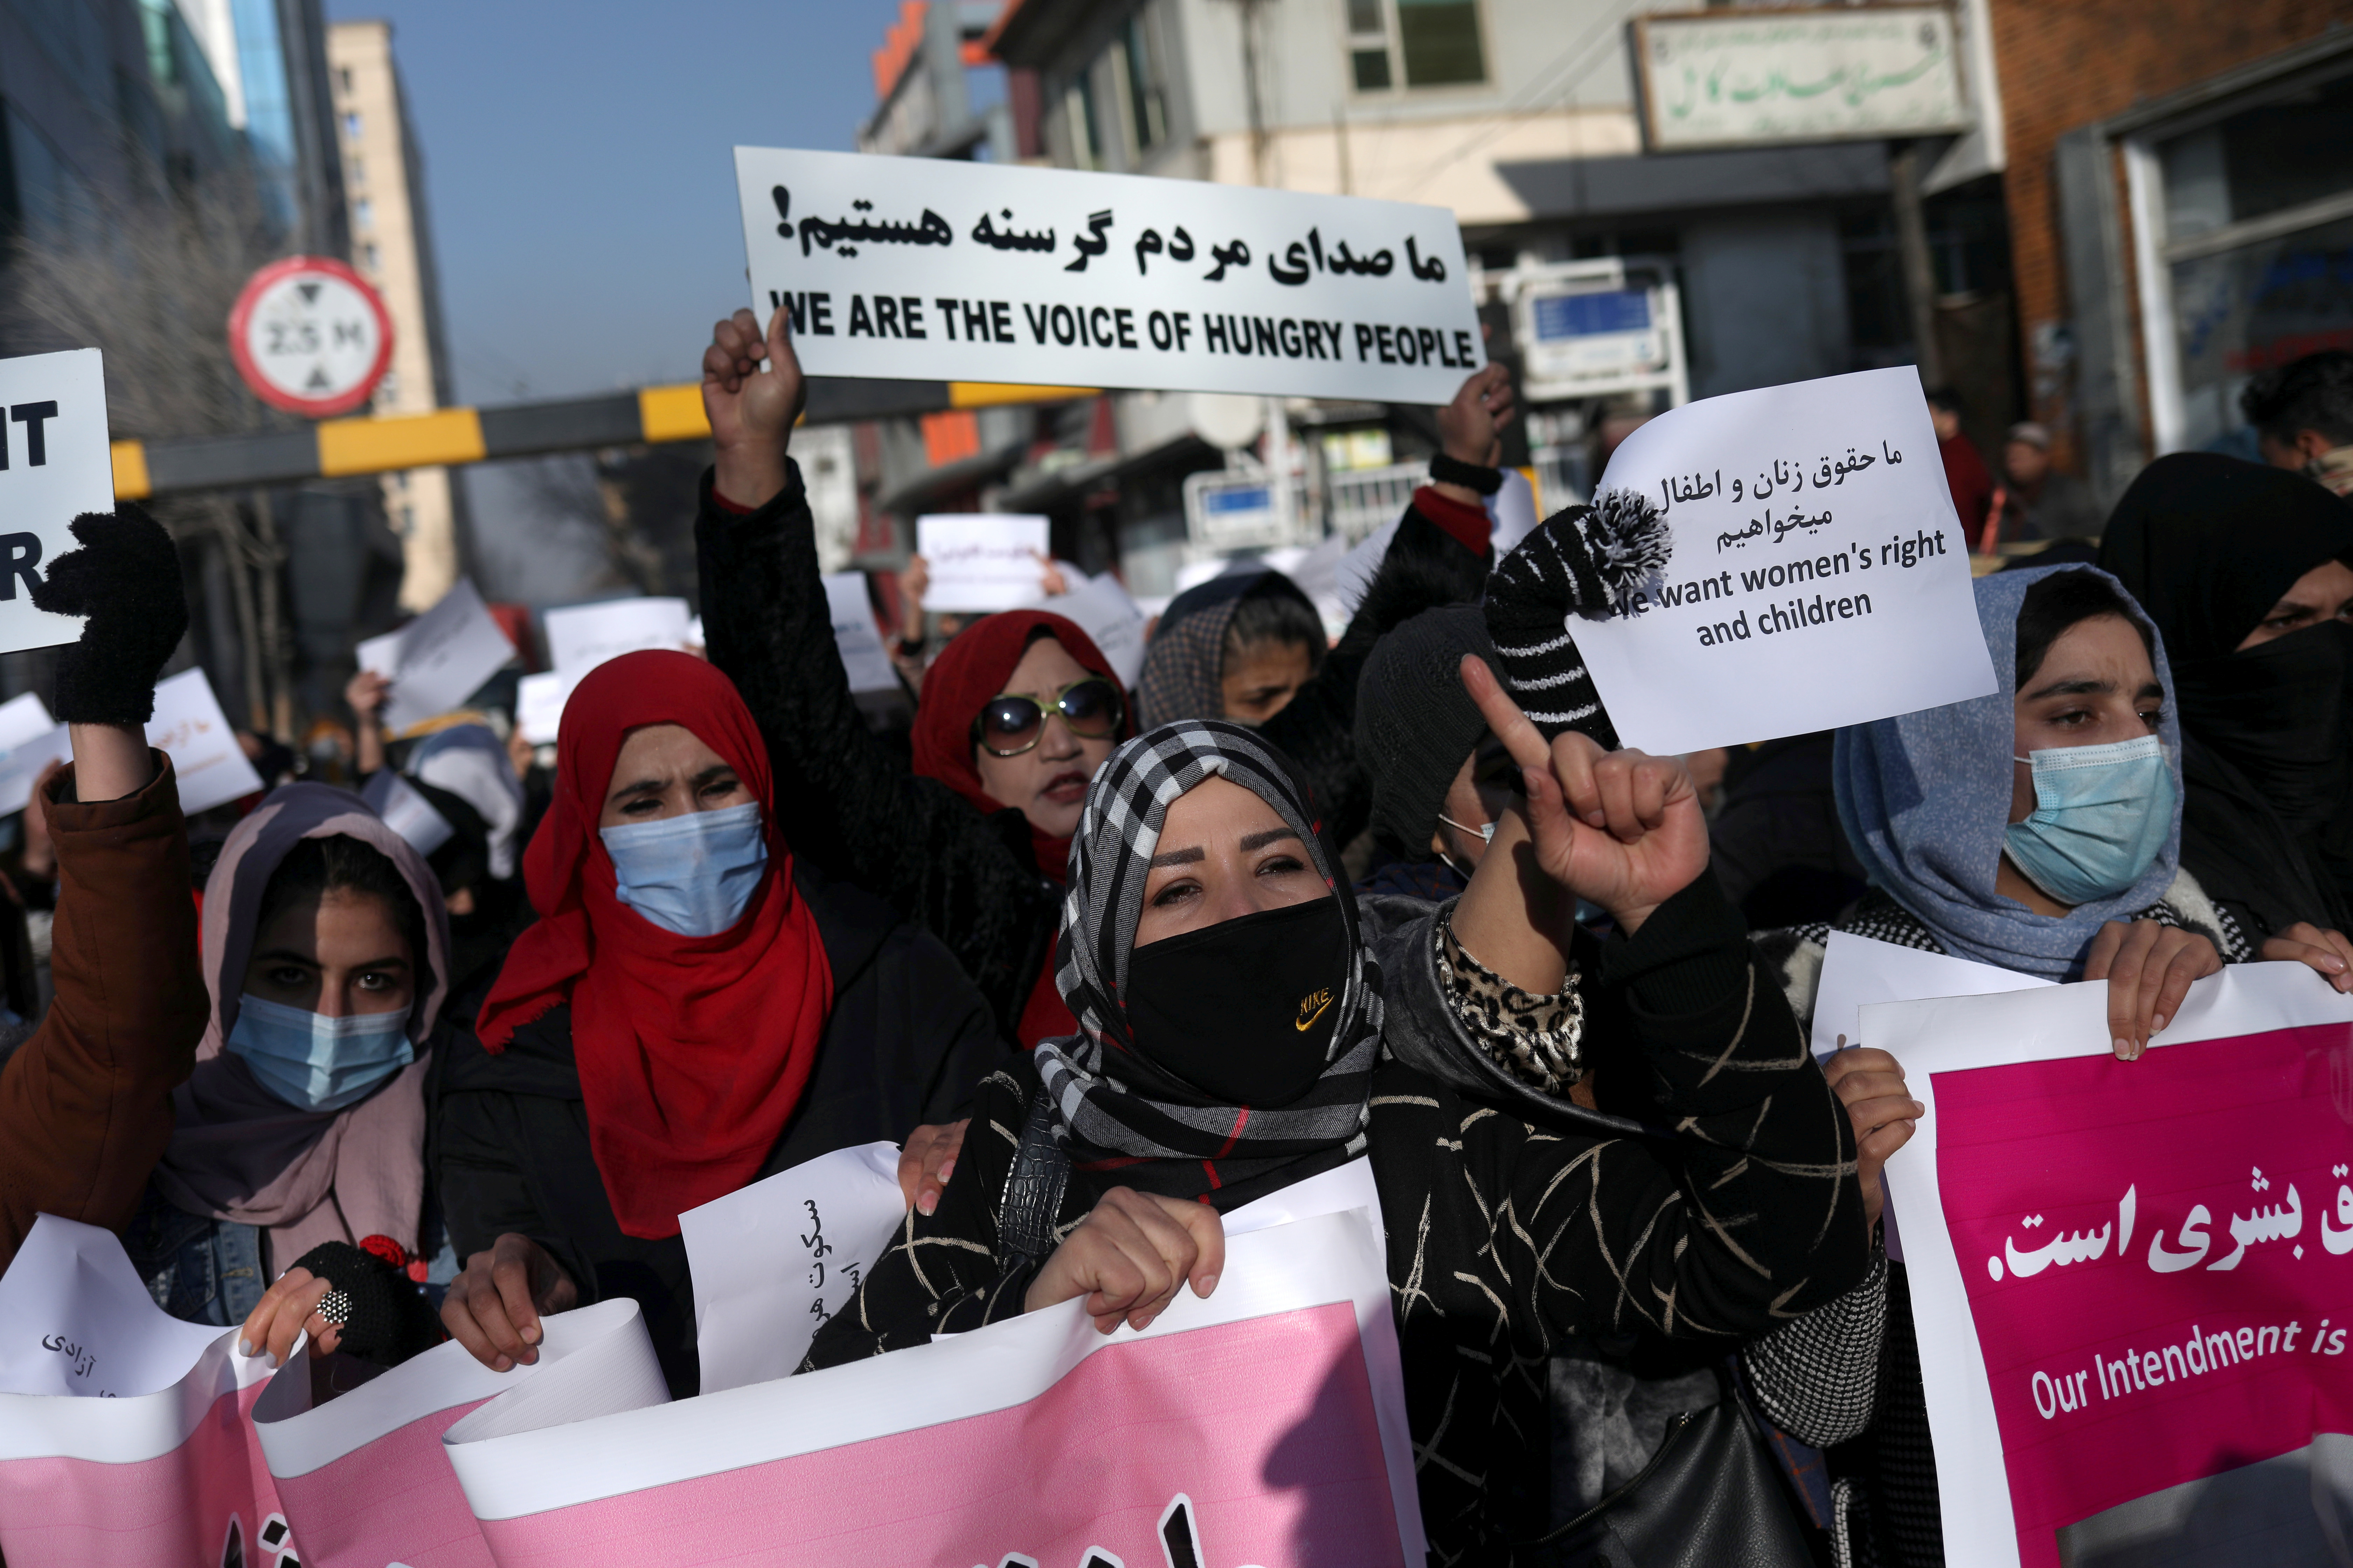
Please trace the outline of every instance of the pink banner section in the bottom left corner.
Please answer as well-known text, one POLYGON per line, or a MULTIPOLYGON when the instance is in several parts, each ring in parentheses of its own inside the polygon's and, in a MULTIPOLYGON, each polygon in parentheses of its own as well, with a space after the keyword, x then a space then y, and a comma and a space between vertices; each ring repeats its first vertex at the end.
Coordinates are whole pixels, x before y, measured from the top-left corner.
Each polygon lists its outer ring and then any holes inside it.
POLYGON ((9 1568, 273 1568, 294 1540, 249 1420, 264 1387, 221 1394, 179 1448, 148 1460, 0 1460, 0 1559, 9 1568))

